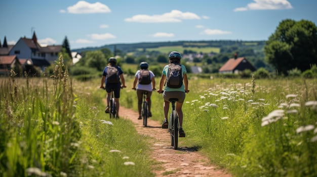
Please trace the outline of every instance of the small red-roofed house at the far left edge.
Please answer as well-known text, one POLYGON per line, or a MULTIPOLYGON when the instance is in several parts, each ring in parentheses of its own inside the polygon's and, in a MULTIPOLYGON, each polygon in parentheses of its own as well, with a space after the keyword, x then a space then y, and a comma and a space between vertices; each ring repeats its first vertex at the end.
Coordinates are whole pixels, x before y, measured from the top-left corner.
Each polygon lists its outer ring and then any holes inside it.
POLYGON ((0 75, 10 76, 11 69, 22 74, 22 67, 16 55, 0 56, 0 75))

